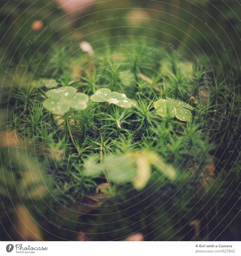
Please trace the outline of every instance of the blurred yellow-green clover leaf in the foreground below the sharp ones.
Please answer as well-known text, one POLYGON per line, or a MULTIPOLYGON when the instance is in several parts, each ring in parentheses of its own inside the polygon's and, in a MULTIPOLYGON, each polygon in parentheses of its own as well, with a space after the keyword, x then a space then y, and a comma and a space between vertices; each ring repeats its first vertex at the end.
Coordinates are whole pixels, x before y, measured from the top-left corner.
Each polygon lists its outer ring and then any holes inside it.
POLYGON ((177 178, 173 166, 166 164, 158 154, 151 151, 112 153, 105 156, 102 163, 98 163, 97 156, 90 156, 84 161, 87 175, 98 177, 105 170, 111 182, 115 184, 132 182, 137 190, 143 189, 149 178, 156 173, 151 173, 152 166, 170 180, 177 178))

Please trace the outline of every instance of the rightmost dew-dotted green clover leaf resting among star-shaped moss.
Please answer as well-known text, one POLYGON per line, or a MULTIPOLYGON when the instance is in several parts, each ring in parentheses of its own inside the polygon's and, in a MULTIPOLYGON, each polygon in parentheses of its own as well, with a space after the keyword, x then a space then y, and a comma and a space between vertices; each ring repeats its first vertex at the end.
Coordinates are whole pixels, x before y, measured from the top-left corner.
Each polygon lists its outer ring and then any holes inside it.
POLYGON ((185 122, 192 120, 192 113, 190 110, 194 108, 189 104, 171 98, 160 99, 154 103, 154 108, 157 109, 157 114, 163 118, 173 118, 185 122))

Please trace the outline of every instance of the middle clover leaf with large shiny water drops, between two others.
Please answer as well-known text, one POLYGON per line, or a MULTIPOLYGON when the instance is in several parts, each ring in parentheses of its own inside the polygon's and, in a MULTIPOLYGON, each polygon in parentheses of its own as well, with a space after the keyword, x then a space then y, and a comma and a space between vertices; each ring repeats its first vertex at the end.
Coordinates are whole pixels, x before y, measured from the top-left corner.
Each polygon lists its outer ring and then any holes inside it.
POLYGON ((93 94, 90 99, 94 102, 108 102, 109 104, 113 103, 122 108, 130 108, 133 106, 133 103, 124 93, 111 92, 110 89, 102 88, 99 89, 93 94))

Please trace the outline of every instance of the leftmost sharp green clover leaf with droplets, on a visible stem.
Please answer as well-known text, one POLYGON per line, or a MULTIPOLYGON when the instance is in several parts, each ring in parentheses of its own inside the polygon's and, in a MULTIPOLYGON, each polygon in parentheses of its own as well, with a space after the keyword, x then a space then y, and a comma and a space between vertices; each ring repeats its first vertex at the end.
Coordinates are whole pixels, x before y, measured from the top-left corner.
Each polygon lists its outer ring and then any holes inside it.
POLYGON ((61 87, 49 90, 46 93, 48 99, 43 102, 45 109, 53 114, 63 115, 70 108, 75 110, 84 110, 87 108, 89 97, 84 93, 76 93, 74 87, 61 87))

